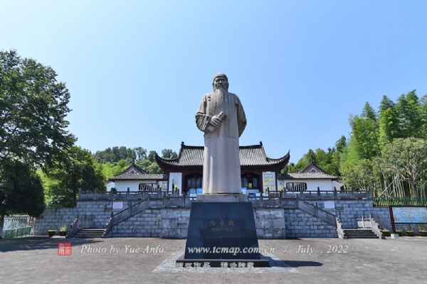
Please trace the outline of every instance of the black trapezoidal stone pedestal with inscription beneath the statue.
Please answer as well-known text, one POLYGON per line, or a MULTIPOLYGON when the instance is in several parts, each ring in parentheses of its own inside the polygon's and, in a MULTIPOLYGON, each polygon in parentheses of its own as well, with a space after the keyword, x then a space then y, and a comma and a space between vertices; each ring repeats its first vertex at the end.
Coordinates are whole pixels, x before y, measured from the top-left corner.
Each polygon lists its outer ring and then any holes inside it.
POLYGON ((193 202, 185 254, 176 263, 268 267, 260 256, 252 202, 193 202))

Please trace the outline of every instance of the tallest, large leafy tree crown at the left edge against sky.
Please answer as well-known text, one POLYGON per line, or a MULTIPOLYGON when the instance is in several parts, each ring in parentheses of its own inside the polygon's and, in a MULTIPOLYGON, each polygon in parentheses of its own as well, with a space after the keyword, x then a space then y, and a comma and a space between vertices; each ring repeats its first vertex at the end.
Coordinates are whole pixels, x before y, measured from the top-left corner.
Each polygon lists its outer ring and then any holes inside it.
POLYGON ((56 76, 16 50, 0 51, 0 168, 14 160, 45 165, 73 146, 65 130, 70 94, 56 76))

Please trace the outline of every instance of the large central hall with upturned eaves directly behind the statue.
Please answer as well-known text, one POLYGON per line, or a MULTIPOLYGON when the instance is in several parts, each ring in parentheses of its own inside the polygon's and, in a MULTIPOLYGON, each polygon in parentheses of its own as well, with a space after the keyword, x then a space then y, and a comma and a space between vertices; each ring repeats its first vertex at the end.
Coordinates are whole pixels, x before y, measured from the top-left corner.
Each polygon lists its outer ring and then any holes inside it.
MULTIPOLYGON (((262 142, 259 145, 240 146, 239 151, 242 191, 248 194, 277 190, 276 177, 288 164, 289 152, 282 158, 268 158, 262 142)), ((169 192, 179 195, 201 194, 203 152, 204 146, 187 146, 182 142, 176 159, 167 160, 155 155, 157 164, 168 177, 169 192)))

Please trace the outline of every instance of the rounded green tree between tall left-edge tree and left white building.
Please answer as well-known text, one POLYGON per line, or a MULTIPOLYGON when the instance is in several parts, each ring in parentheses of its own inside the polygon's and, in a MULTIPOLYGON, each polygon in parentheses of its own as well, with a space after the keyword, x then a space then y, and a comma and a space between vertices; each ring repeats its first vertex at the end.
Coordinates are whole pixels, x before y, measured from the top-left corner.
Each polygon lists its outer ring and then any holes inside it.
MULTIPOLYGON (((70 158, 56 162, 47 170, 48 178, 58 180, 58 187, 51 193, 51 198, 63 196, 73 199, 73 206, 77 204, 78 189, 93 191, 105 190, 105 179, 102 175, 102 166, 95 162, 90 151, 73 146, 70 149, 70 158)), ((58 204, 57 201, 53 201, 58 204)), ((63 204, 65 205, 65 204, 63 204)))

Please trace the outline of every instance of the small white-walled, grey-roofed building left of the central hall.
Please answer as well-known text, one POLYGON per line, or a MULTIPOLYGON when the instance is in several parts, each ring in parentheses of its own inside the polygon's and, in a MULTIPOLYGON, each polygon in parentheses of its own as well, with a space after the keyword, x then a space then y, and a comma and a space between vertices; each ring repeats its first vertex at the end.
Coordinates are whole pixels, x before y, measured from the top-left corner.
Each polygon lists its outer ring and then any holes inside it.
POLYGON ((122 173, 108 180, 115 182, 115 189, 117 191, 126 191, 127 188, 129 188, 130 191, 154 191, 162 188, 163 181, 167 180, 167 176, 164 174, 149 174, 132 163, 132 165, 122 173))

